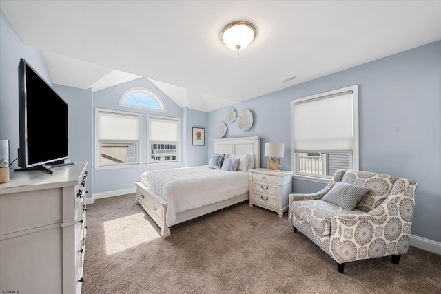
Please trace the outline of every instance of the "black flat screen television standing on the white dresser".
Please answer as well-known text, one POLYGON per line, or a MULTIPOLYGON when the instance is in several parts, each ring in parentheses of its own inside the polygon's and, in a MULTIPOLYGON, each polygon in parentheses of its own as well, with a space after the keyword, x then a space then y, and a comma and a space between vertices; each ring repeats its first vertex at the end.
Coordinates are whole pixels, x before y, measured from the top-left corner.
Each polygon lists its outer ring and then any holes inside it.
POLYGON ((19 167, 48 169, 69 158, 68 103, 25 61, 19 63, 19 167))

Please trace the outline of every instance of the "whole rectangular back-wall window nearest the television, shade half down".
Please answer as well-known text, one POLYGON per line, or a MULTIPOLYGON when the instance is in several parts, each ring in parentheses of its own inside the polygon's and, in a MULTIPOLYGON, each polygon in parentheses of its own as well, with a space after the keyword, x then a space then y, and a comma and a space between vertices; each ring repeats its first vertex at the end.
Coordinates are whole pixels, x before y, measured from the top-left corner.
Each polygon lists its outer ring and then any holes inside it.
POLYGON ((141 114, 95 109, 95 169, 139 166, 141 114))

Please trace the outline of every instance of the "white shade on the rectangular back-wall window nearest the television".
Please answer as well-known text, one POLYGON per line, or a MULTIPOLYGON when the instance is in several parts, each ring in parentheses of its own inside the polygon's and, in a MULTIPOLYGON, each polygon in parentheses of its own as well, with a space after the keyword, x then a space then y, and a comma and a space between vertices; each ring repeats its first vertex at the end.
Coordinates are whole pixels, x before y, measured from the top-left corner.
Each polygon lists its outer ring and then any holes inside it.
POLYGON ((139 140, 140 117, 130 114, 98 113, 98 140, 139 140))

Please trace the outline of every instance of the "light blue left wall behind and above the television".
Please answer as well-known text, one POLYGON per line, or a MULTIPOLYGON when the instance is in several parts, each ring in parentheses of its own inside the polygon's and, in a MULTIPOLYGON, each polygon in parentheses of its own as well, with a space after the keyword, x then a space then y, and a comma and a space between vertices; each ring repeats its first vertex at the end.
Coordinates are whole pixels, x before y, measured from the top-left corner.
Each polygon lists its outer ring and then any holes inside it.
MULTIPOLYGON (((23 44, 0 10, 0 139, 9 140, 10 161, 19 148, 19 63, 24 58, 49 84, 48 67, 41 50, 23 44)), ((16 169, 18 161, 10 167, 16 169)))

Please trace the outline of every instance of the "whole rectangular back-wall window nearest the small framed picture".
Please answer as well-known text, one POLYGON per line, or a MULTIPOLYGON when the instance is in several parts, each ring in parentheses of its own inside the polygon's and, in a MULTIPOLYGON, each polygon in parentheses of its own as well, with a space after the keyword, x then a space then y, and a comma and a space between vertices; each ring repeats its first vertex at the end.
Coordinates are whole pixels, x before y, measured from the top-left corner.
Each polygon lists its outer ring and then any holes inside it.
POLYGON ((147 116, 147 163, 181 161, 179 118, 147 116))

